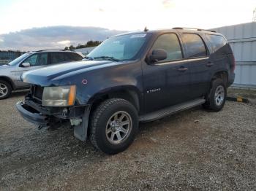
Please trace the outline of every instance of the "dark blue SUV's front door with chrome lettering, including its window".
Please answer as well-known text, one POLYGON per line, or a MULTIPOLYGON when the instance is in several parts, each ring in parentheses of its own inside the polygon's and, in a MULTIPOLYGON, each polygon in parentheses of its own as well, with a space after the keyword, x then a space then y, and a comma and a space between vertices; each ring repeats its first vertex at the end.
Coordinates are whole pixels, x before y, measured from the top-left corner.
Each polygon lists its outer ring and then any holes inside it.
POLYGON ((189 93, 189 64, 184 60, 177 34, 158 36, 148 54, 156 49, 165 50, 167 58, 154 64, 143 63, 146 112, 186 101, 189 93))

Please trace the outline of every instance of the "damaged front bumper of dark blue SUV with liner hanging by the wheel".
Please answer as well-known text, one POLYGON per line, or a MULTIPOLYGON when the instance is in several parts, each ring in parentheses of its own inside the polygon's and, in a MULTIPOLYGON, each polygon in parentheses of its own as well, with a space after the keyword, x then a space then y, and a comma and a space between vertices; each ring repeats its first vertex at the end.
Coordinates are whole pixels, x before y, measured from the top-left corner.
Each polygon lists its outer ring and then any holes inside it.
POLYGON ((51 127, 61 120, 78 121, 74 125, 74 134, 81 141, 87 139, 90 105, 46 107, 31 98, 26 98, 25 101, 19 101, 16 108, 25 120, 39 127, 51 127))

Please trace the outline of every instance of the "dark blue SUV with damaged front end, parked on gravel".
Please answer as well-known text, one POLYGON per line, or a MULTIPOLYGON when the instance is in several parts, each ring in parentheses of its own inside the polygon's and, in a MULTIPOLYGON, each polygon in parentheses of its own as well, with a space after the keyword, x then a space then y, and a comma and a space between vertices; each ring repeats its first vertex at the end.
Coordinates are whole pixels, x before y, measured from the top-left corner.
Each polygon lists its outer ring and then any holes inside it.
POLYGON ((139 122, 198 105, 218 112, 235 78, 225 37, 202 29, 120 34, 86 59, 23 74, 31 91, 16 106, 39 128, 68 122, 108 154, 129 147, 139 122))

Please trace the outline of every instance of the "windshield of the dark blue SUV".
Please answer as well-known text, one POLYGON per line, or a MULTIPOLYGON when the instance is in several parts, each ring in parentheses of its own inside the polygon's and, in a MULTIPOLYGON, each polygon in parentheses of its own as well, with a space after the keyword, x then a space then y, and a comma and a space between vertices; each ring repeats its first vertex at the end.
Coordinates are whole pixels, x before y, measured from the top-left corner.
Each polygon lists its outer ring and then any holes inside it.
POLYGON ((132 60, 146 42, 146 36, 145 33, 113 36, 92 50, 87 58, 112 61, 132 60))

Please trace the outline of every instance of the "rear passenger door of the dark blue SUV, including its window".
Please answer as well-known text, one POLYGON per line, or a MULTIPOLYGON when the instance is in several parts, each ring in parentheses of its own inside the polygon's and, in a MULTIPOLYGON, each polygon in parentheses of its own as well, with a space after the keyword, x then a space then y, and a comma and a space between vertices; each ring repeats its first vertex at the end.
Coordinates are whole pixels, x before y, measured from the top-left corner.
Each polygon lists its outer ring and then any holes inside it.
POLYGON ((209 50, 203 36, 194 33, 181 33, 184 43, 191 79, 189 82, 189 99, 199 98, 206 94, 211 81, 213 61, 209 58, 209 50))

